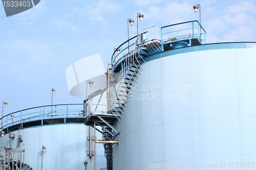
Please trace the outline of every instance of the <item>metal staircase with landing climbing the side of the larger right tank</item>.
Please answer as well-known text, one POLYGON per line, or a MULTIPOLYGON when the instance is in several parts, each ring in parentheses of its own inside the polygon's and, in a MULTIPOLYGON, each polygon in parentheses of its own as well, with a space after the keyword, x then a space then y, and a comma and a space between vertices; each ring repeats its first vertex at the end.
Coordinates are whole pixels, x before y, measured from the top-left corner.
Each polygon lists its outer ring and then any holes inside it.
MULTIPOLYGON (((119 133, 112 125, 116 119, 121 122, 122 115, 124 114, 125 106, 132 90, 134 89, 135 82, 137 82, 142 65, 145 63, 143 56, 146 56, 146 52, 131 50, 131 53, 122 62, 122 67, 118 72, 112 72, 114 81, 112 82, 112 95, 109 101, 110 109, 104 113, 93 109, 93 100, 89 101, 89 112, 86 117, 85 124, 90 125, 94 128, 96 126, 101 128, 96 130, 102 134, 103 140, 113 140, 114 137, 119 133), (91 102, 91 104, 90 104, 91 102)), ((94 102, 97 103, 97 102, 94 102)), ((99 103, 99 102, 98 102, 99 103)), ((108 162, 108 170, 113 169, 113 143, 103 143, 105 150, 105 158, 108 162)))

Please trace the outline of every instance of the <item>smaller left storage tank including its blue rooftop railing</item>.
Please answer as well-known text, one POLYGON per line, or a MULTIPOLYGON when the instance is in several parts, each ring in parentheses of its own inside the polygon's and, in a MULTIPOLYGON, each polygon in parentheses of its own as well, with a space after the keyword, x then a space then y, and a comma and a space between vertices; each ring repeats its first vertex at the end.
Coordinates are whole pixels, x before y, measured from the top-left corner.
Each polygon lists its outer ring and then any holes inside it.
MULTIPOLYGON (((39 106, 5 115, 2 128, 5 134, 0 137, 0 146, 8 150, 11 142, 13 150, 25 149, 22 166, 26 163, 34 170, 41 169, 41 163, 44 170, 94 169, 94 157, 90 157, 87 152, 90 150, 90 128, 83 123, 83 104, 60 104, 53 108, 54 111, 51 110, 51 105, 39 106), (14 139, 9 138, 9 134, 14 134, 14 139), (19 135, 22 140, 19 140, 19 135), (43 145, 46 147, 44 152, 43 145)), ((101 134, 96 133, 96 137, 100 139, 101 134)), ((1 147, 1 166, 4 166, 2 160, 6 151, 2 152, 1 147)), ((96 153, 97 167, 105 168, 106 159, 101 143, 97 144, 96 153)), ((10 157, 11 160, 14 159, 14 164, 16 160, 19 164, 20 155, 10 157)), ((9 168, 7 161, 6 167, 9 168)), ((16 166, 11 163, 10 168, 16 169, 16 166)))

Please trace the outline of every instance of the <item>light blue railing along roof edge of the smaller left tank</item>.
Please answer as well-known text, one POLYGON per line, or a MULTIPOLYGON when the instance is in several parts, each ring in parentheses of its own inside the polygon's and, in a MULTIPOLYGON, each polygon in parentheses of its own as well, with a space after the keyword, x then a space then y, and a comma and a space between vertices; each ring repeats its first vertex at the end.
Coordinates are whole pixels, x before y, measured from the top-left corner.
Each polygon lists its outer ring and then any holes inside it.
POLYGON ((24 123, 35 120, 85 117, 85 109, 83 108, 83 105, 85 104, 46 105, 19 110, 1 117, 0 122, 2 122, 3 119, 1 127, 2 129, 8 129, 8 127, 20 125, 20 128, 23 128, 22 125, 24 123), (51 107, 53 110, 51 110, 51 107), (12 118, 11 115, 14 117, 12 118))

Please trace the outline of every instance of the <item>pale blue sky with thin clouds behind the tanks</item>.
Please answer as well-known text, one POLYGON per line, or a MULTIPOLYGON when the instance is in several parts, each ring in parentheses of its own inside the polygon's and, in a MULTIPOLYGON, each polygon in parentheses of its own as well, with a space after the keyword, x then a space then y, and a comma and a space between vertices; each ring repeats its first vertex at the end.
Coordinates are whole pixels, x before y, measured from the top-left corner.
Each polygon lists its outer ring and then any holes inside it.
MULTIPOLYGON (((256 1, 41 0, 15 17, 4 17, 1 5, 0 101, 9 102, 5 114, 50 105, 52 87, 53 104, 82 103, 84 98, 68 91, 65 70, 70 64, 100 53, 106 68, 113 49, 127 40, 127 17, 136 21, 137 12, 144 15, 140 32, 199 20, 193 10, 197 4, 207 43, 256 41, 256 1)), ((130 37, 136 31, 135 23, 130 37)))

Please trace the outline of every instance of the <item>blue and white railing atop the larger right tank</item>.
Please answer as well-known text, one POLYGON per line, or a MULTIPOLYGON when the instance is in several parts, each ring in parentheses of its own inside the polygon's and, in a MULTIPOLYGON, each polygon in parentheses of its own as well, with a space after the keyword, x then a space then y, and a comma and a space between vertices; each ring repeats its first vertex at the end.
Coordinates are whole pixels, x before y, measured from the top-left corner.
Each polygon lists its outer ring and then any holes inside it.
MULTIPOLYGON (((136 42, 137 36, 134 36, 116 48, 111 58, 112 68, 114 69, 128 56, 137 53, 153 41, 156 42, 156 45, 159 45, 161 52, 164 50, 163 45, 165 44, 169 45, 177 41, 188 41, 189 45, 191 45, 192 39, 197 39, 200 44, 206 43, 206 31, 197 20, 176 23, 164 27, 153 26, 144 29, 138 36, 138 45, 136 42), (128 45, 128 41, 130 45, 128 45)), ((158 52, 159 51, 156 51, 156 53, 158 52)))

